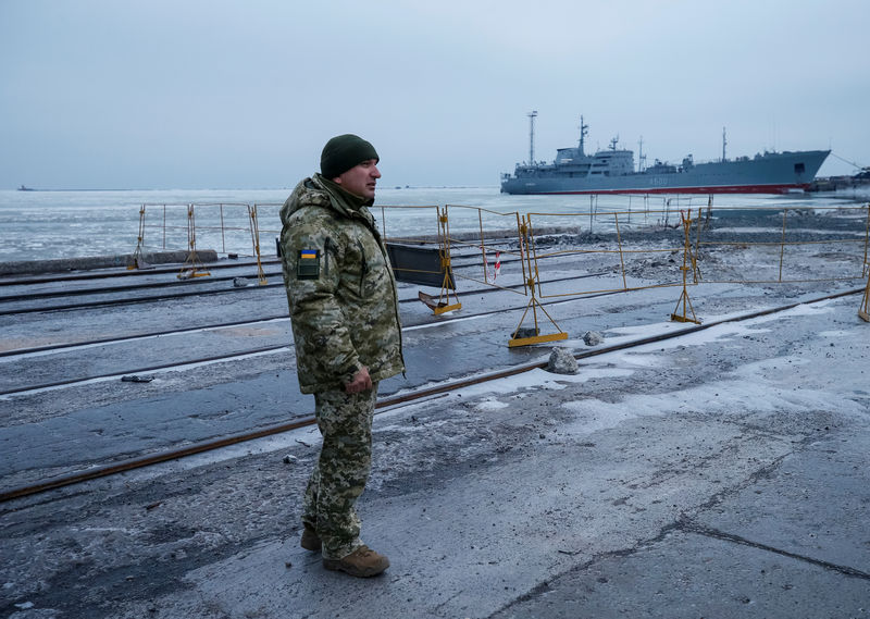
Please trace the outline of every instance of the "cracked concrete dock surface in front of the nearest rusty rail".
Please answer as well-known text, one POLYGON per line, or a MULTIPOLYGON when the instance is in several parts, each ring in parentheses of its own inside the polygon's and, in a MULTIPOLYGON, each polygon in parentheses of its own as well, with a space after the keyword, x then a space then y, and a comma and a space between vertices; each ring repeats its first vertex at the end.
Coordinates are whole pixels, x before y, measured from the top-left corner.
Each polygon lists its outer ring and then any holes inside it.
POLYGON ((0 614, 868 617, 858 300, 384 410, 359 505, 391 561, 373 579, 299 547, 311 429, 8 502, 0 614))

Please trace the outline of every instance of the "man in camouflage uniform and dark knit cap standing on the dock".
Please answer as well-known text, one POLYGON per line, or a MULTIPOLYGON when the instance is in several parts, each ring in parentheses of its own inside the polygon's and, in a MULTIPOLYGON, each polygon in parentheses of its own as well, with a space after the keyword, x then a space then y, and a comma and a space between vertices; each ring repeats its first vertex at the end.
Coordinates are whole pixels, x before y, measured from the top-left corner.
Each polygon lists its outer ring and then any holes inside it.
POLYGON ((301 544, 322 550, 326 569, 358 577, 389 567, 360 540, 355 504, 371 471, 377 384, 405 371, 396 280, 366 208, 378 161, 362 138, 334 137, 321 173, 300 182, 281 210, 299 388, 314 394, 323 435, 306 490, 301 544))

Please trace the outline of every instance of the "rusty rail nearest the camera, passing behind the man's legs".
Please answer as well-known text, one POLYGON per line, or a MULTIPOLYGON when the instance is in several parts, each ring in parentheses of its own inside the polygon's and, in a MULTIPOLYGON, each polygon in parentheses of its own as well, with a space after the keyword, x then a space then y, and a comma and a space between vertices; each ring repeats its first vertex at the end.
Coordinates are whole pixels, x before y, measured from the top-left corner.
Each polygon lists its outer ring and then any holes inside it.
MULTIPOLYGON (((769 314, 774 314, 774 313, 778 313, 778 312, 787 311, 787 310, 791 310, 791 309, 793 309, 793 308, 795 308, 795 307, 797 307, 799 305, 820 302, 820 301, 830 300, 830 299, 834 299, 834 298, 838 298, 838 297, 843 297, 843 296, 847 296, 847 295, 860 294, 862 292, 863 292, 862 288, 845 290, 845 292, 840 292, 840 293, 835 293, 835 294, 831 294, 831 295, 820 296, 818 298, 810 299, 810 300, 801 300, 801 301, 786 304, 786 305, 782 305, 782 306, 778 306, 778 307, 773 307, 773 308, 768 308, 768 309, 763 309, 763 310, 759 310, 759 311, 750 311, 750 312, 743 313, 743 314, 736 315, 736 317, 731 317, 731 318, 728 318, 728 319, 722 319, 722 320, 718 320, 718 321, 710 321, 710 322, 705 323, 705 324, 686 326, 686 327, 684 327, 684 329, 682 329, 680 331, 676 331, 676 332, 657 334, 657 335, 652 335, 652 336, 648 336, 648 337, 634 339, 634 341, 631 341, 631 342, 625 342, 625 343, 622 343, 622 344, 605 346, 605 347, 596 348, 596 349, 593 349, 593 350, 586 350, 586 351, 576 354, 575 358, 576 359, 588 359, 588 358, 597 357, 597 356, 600 356, 600 355, 606 355, 608 352, 613 352, 616 350, 625 350, 625 349, 636 348, 636 347, 644 346, 644 345, 651 344, 651 343, 656 343, 656 342, 661 342, 661 341, 664 341, 664 339, 684 337, 686 335, 692 335, 692 334, 695 334, 695 333, 697 333, 699 331, 707 330, 707 329, 710 329, 712 326, 717 326, 717 325, 720 325, 720 324, 751 320, 751 319, 763 317, 763 315, 769 315, 769 314)), ((382 412, 385 409, 389 409, 389 408, 393 408, 393 407, 396 407, 396 406, 402 406, 402 405, 406 405, 406 404, 412 404, 412 403, 422 401, 422 400, 425 400, 427 398, 438 397, 438 396, 442 396, 444 394, 450 393, 452 391, 461 389, 461 388, 464 388, 464 387, 468 387, 468 386, 485 383, 485 382, 488 382, 488 381, 499 380, 499 379, 504 379, 504 377, 507 377, 507 376, 517 375, 517 374, 524 373, 524 372, 527 372, 527 371, 534 370, 534 369, 545 368, 546 364, 547 364, 546 362, 542 362, 542 361, 518 363, 518 364, 511 366, 509 368, 505 368, 505 369, 501 369, 501 370, 498 370, 498 371, 494 371, 494 372, 478 373, 478 374, 475 374, 475 375, 471 375, 471 376, 463 377, 463 379, 460 379, 460 380, 450 381, 450 382, 447 382, 447 383, 444 383, 444 384, 439 384, 439 385, 435 385, 435 386, 424 386, 424 387, 417 388, 417 389, 414 389, 412 392, 409 392, 409 393, 405 393, 405 394, 401 394, 401 395, 395 395, 395 396, 391 396, 391 397, 383 398, 383 399, 378 400, 378 403, 376 405, 376 409, 377 409, 377 412, 382 412)), ((196 455, 196 454, 202 454, 202 453, 207 453, 207 451, 216 450, 216 449, 220 449, 220 448, 223 448, 223 447, 227 447, 227 446, 231 446, 231 445, 236 445, 236 444, 244 443, 244 442, 247 442, 247 441, 252 441, 252 440, 256 440, 256 438, 262 438, 264 436, 279 434, 282 432, 287 432, 287 431, 295 430, 295 429, 298 429, 298 428, 312 425, 314 423, 315 423, 314 418, 312 416, 307 416, 307 417, 302 417, 302 418, 297 418, 297 419, 295 419, 295 420, 293 420, 291 422, 288 422, 288 423, 282 423, 282 424, 266 426, 266 428, 260 428, 260 429, 251 431, 251 432, 243 432, 243 433, 238 433, 238 434, 234 434, 234 435, 229 435, 229 436, 223 436, 223 437, 219 437, 219 438, 211 440, 211 441, 204 441, 204 442, 195 443, 195 444, 191 444, 191 445, 186 445, 186 446, 181 447, 181 448, 165 449, 165 450, 162 450, 162 451, 159 451, 159 453, 149 454, 147 456, 141 456, 141 457, 137 457, 137 458, 129 458, 127 460, 120 461, 120 462, 112 462, 112 463, 103 463, 103 465, 94 466, 94 467, 90 467, 90 468, 88 468, 87 470, 84 470, 84 471, 79 471, 79 472, 75 472, 75 473, 71 473, 71 474, 65 474, 65 475, 59 475, 59 476, 50 478, 50 479, 47 479, 47 480, 42 480, 40 482, 22 485, 22 486, 18 486, 18 487, 4 488, 4 490, 0 491, 0 503, 8 503, 8 502, 11 502, 11 500, 16 499, 16 498, 23 498, 23 497, 27 497, 27 496, 38 495, 38 494, 46 493, 46 492, 49 492, 49 491, 52 491, 52 490, 57 490, 57 488, 61 488, 61 487, 64 487, 64 486, 70 486, 70 485, 83 483, 83 482, 86 482, 86 481, 89 481, 89 480, 95 480, 95 479, 99 479, 99 478, 107 478, 107 476, 120 474, 120 473, 123 473, 123 472, 126 472, 126 471, 132 471, 132 470, 135 470, 135 469, 144 468, 144 467, 148 467, 148 466, 153 466, 153 465, 157 465, 157 463, 167 462, 167 461, 171 461, 171 460, 176 460, 176 459, 179 459, 179 458, 192 456, 192 455, 196 455)))

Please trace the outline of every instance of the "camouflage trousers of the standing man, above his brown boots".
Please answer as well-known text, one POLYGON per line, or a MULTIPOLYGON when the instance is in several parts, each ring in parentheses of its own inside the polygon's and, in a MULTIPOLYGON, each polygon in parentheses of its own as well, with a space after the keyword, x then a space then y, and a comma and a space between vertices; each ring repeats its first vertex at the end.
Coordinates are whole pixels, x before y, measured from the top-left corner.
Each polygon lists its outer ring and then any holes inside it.
POLYGON ((377 383, 360 394, 314 394, 323 446, 306 488, 302 522, 318 532, 327 559, 346 557, 362 545, 355 506, 372 470, 376 396, 377 383))

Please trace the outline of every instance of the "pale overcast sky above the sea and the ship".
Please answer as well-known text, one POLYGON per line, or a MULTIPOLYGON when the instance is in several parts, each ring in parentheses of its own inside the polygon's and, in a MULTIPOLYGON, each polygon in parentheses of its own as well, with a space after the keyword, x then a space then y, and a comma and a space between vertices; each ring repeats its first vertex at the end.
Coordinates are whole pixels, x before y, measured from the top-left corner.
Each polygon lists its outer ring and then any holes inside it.
POLYGON ((529 158, 833 150, 870 165, 867 0, 0 0, 0 188, 276 188, 330 137, 383 183, 529 158))

